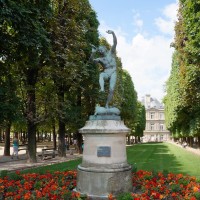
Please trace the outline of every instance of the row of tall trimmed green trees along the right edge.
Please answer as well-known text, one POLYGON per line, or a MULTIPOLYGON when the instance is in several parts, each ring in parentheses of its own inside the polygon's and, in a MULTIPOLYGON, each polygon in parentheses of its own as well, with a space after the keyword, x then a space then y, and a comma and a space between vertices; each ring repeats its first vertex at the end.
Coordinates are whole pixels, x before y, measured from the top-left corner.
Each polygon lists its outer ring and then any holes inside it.
POLYGON ((174 138, 200 147, 200 2, 180 0, 165 117, 174 138))

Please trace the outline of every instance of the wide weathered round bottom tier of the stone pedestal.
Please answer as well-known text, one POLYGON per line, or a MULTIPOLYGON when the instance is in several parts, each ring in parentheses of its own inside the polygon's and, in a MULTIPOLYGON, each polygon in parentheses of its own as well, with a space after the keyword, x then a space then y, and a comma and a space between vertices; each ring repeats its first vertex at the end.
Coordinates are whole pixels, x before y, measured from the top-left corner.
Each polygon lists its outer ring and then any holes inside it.
POLYGON ((109 194, 117 196, 132 191, 131 166, 123 168, 84 168, 78 166, 76 190, 90 199, 107 199, 109 194))

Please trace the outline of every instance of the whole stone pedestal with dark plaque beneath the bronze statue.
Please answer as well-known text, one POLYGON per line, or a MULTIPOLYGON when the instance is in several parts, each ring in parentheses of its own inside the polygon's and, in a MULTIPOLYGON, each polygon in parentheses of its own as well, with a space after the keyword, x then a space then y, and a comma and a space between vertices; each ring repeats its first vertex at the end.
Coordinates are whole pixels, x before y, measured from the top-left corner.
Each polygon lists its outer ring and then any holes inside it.
POLYGON ((90 199, 132 191, 131 166, 126 156, 129 129, 123 121, 89 120, 79 131, 85 140, 76 190, 90 199))

